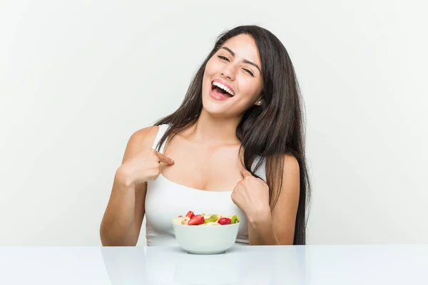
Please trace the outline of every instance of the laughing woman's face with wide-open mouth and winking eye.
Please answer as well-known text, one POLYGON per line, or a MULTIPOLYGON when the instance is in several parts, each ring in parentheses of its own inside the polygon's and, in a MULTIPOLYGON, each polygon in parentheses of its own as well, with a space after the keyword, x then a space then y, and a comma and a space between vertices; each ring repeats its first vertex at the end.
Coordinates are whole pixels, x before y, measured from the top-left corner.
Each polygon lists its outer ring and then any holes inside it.
POLYGON ((260 105, 262 90, 260 56, 251 36, 228 39, 205 66, 202 102, 210 114, 239 117, 260 105))

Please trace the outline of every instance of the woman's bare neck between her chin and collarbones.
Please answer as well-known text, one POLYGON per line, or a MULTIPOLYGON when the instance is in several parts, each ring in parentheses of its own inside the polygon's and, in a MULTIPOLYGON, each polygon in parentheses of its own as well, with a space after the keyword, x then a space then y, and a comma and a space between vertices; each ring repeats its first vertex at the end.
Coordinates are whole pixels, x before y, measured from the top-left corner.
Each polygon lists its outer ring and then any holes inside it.
POLYGON ((196 123, 186 132, 186 136, 204 145, 236 145, 236 128, 241 118, 213 117, 204 109, 196 123))

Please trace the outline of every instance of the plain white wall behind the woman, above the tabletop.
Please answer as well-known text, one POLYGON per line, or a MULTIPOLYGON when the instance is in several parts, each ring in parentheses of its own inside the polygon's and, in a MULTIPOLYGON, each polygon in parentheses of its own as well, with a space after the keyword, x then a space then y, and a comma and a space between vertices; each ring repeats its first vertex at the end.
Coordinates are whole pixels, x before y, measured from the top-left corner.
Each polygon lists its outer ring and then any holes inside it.
POLYGON ((0 245, 100 245, 129 136, 178 107, 215 38, 240 24, 270 29, 295 64, 308 243, 427 243, 422 5, 1 1, 0 245))

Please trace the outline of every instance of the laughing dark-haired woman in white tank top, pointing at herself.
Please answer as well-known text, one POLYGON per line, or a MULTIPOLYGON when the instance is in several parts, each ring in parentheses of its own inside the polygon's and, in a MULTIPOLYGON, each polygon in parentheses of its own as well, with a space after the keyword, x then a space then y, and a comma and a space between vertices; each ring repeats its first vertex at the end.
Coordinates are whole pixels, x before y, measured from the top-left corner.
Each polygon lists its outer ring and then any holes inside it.
POLYGON ((173 245, 188 211, 240 216, 240 244, 305 244, 310 185, 295 71, 265 28, 223 33, 175 113, 131 135, 103 245, 173 245))

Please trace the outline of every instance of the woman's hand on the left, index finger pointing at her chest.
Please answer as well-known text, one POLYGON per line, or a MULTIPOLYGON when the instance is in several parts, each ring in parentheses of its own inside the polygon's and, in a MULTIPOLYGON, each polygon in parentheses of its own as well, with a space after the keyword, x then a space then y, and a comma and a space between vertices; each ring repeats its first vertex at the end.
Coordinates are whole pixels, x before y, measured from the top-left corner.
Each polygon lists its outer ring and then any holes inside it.
POLYGON ((136 185, 148 180, 156 180, 161 175, 161 162, 167 165, 174 164, 170 157, 166 157, 156 150, 144 150, 123 162, 118 172, 125 185, 136 185))

